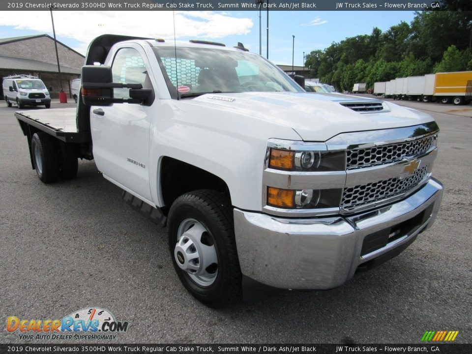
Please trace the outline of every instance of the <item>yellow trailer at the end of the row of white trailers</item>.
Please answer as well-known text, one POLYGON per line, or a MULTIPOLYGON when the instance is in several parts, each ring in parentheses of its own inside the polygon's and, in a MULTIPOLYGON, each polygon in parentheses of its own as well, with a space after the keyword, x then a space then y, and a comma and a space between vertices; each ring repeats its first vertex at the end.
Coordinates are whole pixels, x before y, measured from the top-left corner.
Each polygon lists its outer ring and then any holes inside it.
POLYGON ((467 86, 472 83, 472 71, 457 71, 436 73, 434 85, 434 97, 442 103, 454 103, 455 105, 470 103, 467 95, 467 86))

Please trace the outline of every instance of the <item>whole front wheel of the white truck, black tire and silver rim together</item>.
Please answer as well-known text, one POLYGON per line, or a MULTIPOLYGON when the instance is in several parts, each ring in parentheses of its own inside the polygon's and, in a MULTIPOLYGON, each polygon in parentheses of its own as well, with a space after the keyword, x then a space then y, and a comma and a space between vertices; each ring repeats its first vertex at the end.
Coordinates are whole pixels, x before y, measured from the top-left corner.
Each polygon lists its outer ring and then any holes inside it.
POLYGON ((169 248, 177 275, 209 307, 226 306, 240 292, 233 224, 231 204, 214 190, 186 193, 169 211, 169 248))

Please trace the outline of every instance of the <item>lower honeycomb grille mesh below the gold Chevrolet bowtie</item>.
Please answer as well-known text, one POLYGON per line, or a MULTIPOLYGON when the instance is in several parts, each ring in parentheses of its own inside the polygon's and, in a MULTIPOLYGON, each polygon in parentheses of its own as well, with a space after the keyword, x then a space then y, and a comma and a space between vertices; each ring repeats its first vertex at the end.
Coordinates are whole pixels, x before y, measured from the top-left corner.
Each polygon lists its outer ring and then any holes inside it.
POLYGON ((417 186, 426 177, 427 173, 428 166, 423 166, 407 178, 393 177, 378 182, 344 188, 341 208, 351 211, 356 207, 402 194, 417 186))

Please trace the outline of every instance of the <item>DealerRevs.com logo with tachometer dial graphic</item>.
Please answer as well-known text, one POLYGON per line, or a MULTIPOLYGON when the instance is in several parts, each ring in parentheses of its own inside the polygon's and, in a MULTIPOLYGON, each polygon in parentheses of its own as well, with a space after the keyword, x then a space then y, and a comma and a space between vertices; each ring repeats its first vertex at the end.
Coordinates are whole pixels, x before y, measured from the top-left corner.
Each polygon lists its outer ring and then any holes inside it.
POLYGON ((10 316, 6 330, 28 340, 106 340, 116 339, 118 332, 126 332, 128 323, 116 321, 108 310, 89 307, 60 320, 24 320, 10 316))

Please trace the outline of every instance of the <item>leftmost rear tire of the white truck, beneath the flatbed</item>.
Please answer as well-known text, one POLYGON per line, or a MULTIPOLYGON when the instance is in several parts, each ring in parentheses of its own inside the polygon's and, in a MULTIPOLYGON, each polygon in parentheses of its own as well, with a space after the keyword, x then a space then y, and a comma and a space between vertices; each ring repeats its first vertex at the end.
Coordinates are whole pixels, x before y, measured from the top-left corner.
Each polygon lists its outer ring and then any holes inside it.
POLYGON ((58 153, 50 135, 44 132, 34 133, 31 139, 31 156, 34 169, 42 182, 51 183, 58 180, 58 153))

